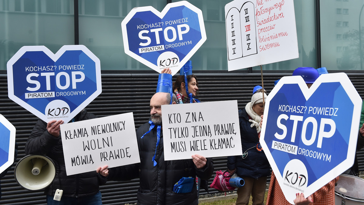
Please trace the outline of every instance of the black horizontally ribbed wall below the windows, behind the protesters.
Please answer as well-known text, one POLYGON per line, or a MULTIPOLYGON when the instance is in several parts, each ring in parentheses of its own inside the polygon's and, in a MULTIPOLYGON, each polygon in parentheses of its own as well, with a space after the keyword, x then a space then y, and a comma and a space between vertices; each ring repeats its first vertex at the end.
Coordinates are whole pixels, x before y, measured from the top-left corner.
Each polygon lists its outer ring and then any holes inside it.
MULTIPOLYGON (((283 74, 264 74, 264 87, 269 92, 274 81, 283 74)), ((201 102, 218 100, 238 100, 238 107, 244 108, 252 96, 253 87, 261 84, 260 74, 224 73, 198 74, 199 99, 201 102)), ((364 96, 364 74, 348 74, 360 96, 364 96)), ((176 76, 174 77, 174 79, 176 76)), ((98 117, 133 112, 135 127, 141 126, 149 119, 149 100, 155 92, 157 74, 102 74, 102 94, 86 107, 98 117)), ((16 142, 19 145, 17 161, 25 156, 24 146, 37 121, 37 117, 23 109, 8 98, 7 76, 0 75, 0 114, 4 115, 16 127, 16 142)), ((216 108, 212 112, 223 112, 216 108)), ((364 150, 358 151, 359 169, 364 170, 364 150)), ((16 163, 15 162, 15 163, 16 163)), ((226 170, 226 157, 214 158, 215 170, 226 170)), ((14 166, 13 166, 14 167, 14 166)), ((213 178, 210 179, 210 183, 213 178)), ((102 186, 103 204, 126 204, 137 201, 139 180, 128 182, 109 181, 102 186)), ((3 196, 0 204, 46 204, 43 191, 29 191, 16 184, 13 168, 1 179, 3 196)), ((210 190, 210 193, 217 193, 210 190)), ((201 190, 200 194, 206 194, 201 190)))

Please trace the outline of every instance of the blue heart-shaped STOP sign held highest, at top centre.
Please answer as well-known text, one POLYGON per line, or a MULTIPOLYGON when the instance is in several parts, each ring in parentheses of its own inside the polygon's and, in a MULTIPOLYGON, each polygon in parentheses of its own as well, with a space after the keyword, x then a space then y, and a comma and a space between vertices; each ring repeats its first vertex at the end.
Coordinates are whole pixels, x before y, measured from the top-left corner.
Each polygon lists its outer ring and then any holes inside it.
POLYGON ((172 75, 206 40, 202 12, 187 1, 133 8, 121 23, 125 53, 157 72, 172 75))

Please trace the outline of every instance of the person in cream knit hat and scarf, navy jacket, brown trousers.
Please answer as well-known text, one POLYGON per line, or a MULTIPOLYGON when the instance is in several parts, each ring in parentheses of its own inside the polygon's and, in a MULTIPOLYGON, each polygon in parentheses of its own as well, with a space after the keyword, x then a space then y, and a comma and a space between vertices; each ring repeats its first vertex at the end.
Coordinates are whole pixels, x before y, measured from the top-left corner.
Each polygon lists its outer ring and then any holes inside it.
POLYGON ((263 204, 267 176, 270 174, 269 162, 262 150, 259 138, 259 122, 264 111, 262 87, 255 87, 252 100, 245 109, 239 110, 242 156, 227 157, 227 169, 244 179, 245 184, 237 189, 236 205, 249 204, 250 195, 253 205, 263 204), (258 89, 257 89, 258 88, 258 89))

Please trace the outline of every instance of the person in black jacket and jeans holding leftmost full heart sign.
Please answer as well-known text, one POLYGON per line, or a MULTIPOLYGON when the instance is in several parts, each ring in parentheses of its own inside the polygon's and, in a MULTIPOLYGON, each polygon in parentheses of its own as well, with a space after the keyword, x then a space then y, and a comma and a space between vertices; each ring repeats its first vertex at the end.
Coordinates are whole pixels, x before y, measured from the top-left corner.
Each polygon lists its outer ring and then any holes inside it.
MULTIPOLYGON (((94 119, 96 116, 82 110, 72 122, 94 119)), ((67 176, 60 134, 62 120, 48 123, 38 120, 25 144, 25 154, 47 155, 59 166, 52 184, 44 190, 48 205, 101 205, 99 186, 106 183, 106 177, 93 172, 67 176), (63 190, 60 201, 53 200, 56 189, 63 190)))

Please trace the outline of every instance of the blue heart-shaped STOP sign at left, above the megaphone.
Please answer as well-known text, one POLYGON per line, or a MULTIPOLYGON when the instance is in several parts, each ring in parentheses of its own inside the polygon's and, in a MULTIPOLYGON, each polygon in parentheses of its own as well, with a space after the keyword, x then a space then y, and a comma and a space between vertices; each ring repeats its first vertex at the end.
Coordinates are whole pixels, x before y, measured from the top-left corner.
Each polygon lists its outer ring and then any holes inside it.
POLYGON ((100 60, 85 46, 24 46, 8 62, 9 98, 40 119, 70 121, 101 93, 100 60))

